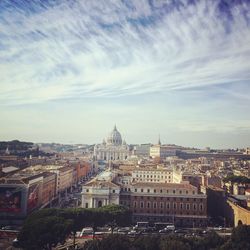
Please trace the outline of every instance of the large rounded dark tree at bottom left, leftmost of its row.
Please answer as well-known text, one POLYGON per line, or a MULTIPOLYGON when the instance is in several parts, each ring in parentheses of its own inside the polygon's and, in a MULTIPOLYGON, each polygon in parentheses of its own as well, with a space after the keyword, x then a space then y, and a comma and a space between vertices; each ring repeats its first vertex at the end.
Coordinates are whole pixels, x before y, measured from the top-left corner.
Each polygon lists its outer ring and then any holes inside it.
POLYGON ((29 219, 18 235, 20 247, 50 250, 58 243, 64 243, 72 229, 72 220, 48 216, 36 220, 29 219))

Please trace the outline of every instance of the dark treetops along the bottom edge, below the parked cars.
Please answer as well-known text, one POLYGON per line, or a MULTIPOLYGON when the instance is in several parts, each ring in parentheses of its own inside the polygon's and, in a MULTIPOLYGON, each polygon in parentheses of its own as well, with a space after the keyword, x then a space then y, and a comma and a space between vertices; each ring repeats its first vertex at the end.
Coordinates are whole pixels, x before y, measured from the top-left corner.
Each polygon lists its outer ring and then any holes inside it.
POLYGON ((232 236, 222 238, 216 232, 205 237, 185 238, 174 234, 166 236, 110 235, 102 240, 87 241, 81 250, 249 250, 250 226, 235 228, 232 236))

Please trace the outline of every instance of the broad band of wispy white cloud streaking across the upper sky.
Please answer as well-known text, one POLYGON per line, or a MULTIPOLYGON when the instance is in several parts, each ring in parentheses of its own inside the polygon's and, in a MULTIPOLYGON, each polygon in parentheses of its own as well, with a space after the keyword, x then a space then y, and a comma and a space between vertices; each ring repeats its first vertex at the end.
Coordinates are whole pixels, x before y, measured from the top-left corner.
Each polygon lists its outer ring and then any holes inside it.
POLYGON ((248 85, 249 2, 189 2, 1 1, 1 103, 248 85))

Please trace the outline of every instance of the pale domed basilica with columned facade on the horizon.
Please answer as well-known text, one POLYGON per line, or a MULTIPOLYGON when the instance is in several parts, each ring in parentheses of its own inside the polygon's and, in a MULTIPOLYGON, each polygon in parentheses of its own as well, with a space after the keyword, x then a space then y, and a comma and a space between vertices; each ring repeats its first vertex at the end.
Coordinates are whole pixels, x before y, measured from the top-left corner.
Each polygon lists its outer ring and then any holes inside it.
POLYGON ((94 157, 96 160, 126 160, 129 156, 129 147, 125 140, 122 140, 120 132, 116 126, 102 144, 94 147, 94 157))

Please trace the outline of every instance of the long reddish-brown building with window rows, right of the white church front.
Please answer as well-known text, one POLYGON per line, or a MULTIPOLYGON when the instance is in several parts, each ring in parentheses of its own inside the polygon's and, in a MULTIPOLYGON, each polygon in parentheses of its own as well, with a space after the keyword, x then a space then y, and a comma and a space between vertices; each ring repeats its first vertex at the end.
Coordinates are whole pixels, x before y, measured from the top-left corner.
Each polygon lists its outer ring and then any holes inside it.
POLYGON ((207 197, 190 184, 135 183, 130 188, 130 208, 134 221, 172 222, 176 226, 207 223, 207 197))

